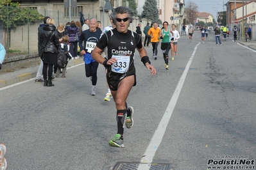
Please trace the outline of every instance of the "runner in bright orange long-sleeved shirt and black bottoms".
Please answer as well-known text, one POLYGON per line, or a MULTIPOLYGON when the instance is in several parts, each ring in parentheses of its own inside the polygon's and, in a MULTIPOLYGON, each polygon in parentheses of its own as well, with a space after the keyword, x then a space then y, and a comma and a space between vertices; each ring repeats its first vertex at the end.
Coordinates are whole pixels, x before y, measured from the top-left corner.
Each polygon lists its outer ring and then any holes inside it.
POLYGON ((148 30, 148 35, 151 36, 151 44, 153 47, 153 58, 157 59, 157 47, 161 36, 161 29, 157 26, 157 23, 153 24, 148 30))

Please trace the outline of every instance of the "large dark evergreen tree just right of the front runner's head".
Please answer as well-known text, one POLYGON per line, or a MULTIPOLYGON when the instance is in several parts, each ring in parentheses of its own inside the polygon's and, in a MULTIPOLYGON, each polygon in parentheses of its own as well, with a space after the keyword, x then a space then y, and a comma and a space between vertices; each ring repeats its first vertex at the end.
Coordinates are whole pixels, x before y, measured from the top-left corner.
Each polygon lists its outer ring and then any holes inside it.
POLYGON ((161 21, 159 19, 159 11, 157 9, 156 0, 146 0, 142 8, 142 19, 151 19, 152 23, 157 22, 160 24, 161 21))

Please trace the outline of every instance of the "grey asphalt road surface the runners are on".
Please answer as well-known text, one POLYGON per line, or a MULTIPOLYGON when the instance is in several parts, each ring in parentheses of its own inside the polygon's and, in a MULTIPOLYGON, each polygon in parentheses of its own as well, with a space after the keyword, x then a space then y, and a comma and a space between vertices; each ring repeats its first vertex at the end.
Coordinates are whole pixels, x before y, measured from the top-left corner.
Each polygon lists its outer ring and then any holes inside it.
MULTIPOLYGON (((210 33, 198 45, 153 162, 200 170, 221 156, 256 159, 255 51, 231 40, 214 41, 210 33)), ((95 97, 84 65, 67 70, 67 78, 56 79, 55 87, 28 81, 0 89, 0 143, 7 146, 8 169, 98 170, 140 162, 199 42, 198 31, 192 42, 182 36, 169 70, 160 45, 156 61, 146 47, 155 76, 135 57, 137 86, 127 100, 135 109, 135 124, 124 130, 125 148, 108 146, 117 132, 116 111, 113 100, 103 101, 107 87, 101 65, 95 97)))

